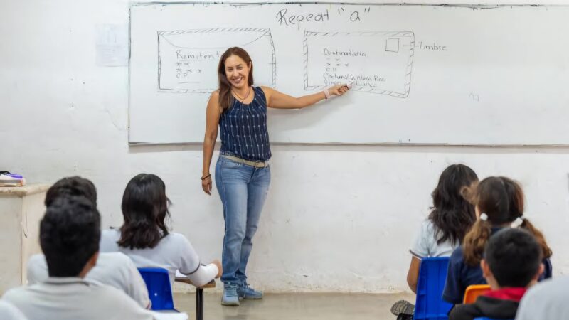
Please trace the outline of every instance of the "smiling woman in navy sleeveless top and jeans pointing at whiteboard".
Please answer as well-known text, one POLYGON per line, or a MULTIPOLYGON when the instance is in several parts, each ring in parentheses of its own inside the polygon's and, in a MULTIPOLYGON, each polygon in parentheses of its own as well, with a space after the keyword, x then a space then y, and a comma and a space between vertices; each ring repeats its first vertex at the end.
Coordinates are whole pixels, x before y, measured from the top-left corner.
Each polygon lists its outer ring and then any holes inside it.
POLYGON ((237 47, 221 55, 218 78, 219 90, 211 95, 206 112, 201 186, 211 194, 209 169, 219 127, 221 149, 216 164, 216 186, 225 220, 221 304, 238 306, 240 298, 262 298, 262 292, 247 284, 245 269, 271 180, 267 163, 271 157, 267 107, 301 109, 332 95, 343 95, 348 86, 335 85, 298 98, 270 87, 254 87, 251 58, 237 47))

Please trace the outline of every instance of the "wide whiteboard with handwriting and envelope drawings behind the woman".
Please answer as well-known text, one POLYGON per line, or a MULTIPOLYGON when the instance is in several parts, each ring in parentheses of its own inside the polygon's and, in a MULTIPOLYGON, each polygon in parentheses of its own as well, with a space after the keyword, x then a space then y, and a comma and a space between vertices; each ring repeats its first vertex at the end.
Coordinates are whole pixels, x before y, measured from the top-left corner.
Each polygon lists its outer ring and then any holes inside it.
POLYGON ((343 97, 270 110, 272 142, 569 144, 569 7, 134 4, 129 142, 203 142, 219 55, 255 85, 343 97))

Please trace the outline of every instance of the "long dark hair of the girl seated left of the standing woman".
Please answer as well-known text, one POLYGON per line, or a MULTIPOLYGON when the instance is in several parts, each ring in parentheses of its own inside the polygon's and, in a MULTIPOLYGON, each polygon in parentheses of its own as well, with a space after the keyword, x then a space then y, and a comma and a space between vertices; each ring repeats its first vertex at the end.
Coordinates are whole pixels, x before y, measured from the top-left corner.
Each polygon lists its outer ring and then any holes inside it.
POLYGON ((170 218, 164 181, 154 174, 139 174, 132 178, 122 195, 120 228, 121 247, 144 249, 155 247, 168 235, 166 217, 170 218))

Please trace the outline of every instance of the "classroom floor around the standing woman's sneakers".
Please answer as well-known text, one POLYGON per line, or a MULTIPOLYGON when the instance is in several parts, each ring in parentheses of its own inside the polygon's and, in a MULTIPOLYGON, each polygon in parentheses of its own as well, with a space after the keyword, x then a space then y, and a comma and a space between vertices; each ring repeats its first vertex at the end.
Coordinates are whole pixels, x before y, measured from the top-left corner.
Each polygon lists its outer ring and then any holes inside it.
MULTIPOLYGON (((204 320, 395 320, 393 302, 415 301, 414 294, 265 294, 262 300, 245 300, 240 306, 222 306, 220 294, 204 293, 204 320)), ((174 304, 196 319, 196 296, 174 294, 174 304)))

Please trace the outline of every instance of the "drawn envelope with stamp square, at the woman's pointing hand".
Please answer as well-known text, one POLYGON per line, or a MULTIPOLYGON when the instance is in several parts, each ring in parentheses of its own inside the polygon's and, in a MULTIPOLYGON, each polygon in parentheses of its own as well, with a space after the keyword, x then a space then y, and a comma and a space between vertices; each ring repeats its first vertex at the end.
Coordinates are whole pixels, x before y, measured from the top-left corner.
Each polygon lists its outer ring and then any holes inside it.
POLYGON ((304 88, 352 82, 352 90, 407 97, 414 46, 410 31, 305 31, 304 88))

